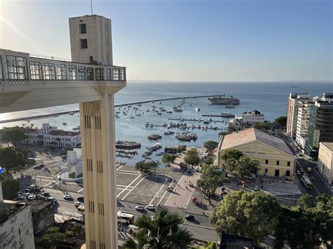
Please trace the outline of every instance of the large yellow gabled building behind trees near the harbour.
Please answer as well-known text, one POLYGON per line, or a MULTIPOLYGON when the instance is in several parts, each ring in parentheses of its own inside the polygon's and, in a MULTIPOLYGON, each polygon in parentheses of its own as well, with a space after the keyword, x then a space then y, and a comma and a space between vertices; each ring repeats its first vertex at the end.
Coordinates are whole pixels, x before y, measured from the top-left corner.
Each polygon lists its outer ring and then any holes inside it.
POLYGON ((294 178, 296 156, 279 137, 255 128, 225 135, 218 144, 218 166, 223 166, 221 154, 226 149, 237 149, 258 160, 258 175, 294 178))

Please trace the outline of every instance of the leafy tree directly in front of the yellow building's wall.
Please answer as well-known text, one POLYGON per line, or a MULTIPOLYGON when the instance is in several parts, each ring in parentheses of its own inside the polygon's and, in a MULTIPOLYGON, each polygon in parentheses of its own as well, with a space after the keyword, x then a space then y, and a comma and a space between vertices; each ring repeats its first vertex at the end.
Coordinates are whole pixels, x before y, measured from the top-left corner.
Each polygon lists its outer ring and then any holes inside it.
POLYGON ((244 177, 256 174, 259 166, 260 163, 258 160, 251 159, 247 156, 241 156, 237 161, 227 163, 226 169, 229 170, 232 175, 235 175, 239 182, 242 182, 244 177))

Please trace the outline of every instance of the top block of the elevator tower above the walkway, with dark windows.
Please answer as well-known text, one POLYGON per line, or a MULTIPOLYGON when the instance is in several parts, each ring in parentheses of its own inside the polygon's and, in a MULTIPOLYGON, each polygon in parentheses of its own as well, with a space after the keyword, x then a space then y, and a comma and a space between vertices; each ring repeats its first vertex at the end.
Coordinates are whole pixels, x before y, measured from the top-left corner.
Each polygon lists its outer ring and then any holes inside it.
POLYGON ((70 18, 72 61, 112 65, 111 20, 100 15, 70 18))

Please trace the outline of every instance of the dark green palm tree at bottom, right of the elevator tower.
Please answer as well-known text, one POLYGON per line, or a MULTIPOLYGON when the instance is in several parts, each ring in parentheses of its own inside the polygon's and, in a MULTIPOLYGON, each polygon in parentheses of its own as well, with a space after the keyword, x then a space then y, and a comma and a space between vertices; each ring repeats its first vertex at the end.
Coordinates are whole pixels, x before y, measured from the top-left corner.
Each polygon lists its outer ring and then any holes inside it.
POLYGON ((138 227, 136 240, 127 238, 123 248, 181 249, 188 248, 192 234, 183 227, 183 218, 168 210, 157 210, 154 217, 142 215, 134 224, 138 227))

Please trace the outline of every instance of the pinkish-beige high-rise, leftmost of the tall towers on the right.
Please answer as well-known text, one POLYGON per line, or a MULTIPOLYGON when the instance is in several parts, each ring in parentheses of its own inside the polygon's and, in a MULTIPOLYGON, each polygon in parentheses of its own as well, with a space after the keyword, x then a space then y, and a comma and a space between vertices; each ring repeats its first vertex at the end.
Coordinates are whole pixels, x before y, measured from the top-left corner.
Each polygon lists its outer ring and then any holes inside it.
POLYGON ((311 100, 307 93, 290 93, 287 106, 287 135, 296 137, 297 116, 299 112, 299 102, 311 100))

